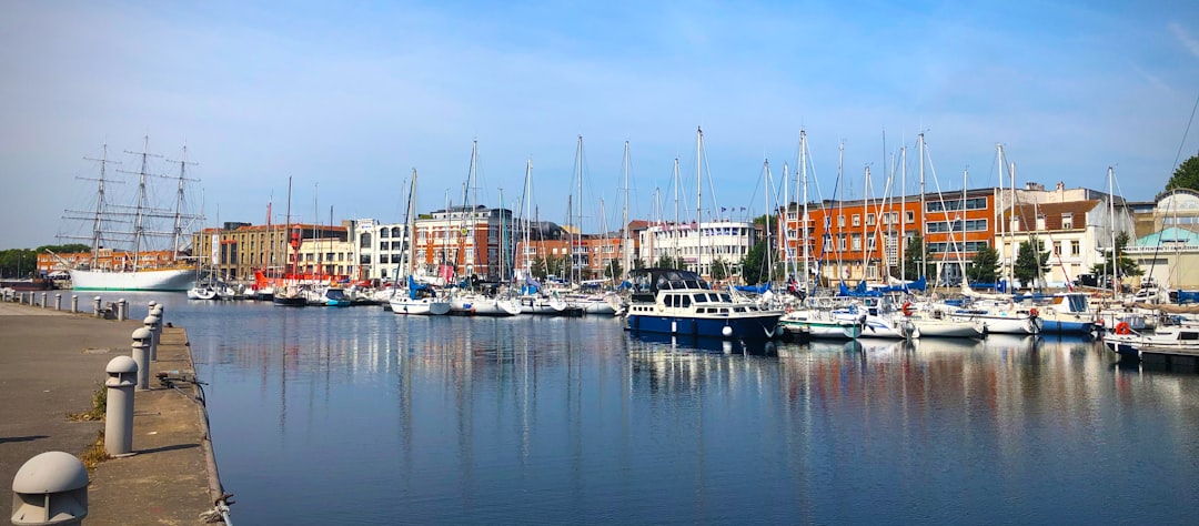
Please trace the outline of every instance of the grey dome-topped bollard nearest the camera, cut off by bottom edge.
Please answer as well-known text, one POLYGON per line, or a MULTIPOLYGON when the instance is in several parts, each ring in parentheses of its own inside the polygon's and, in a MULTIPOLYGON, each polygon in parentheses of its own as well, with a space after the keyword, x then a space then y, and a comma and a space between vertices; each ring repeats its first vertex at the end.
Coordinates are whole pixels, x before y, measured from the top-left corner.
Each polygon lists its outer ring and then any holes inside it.
POLYGON ((12 524, 77 525, 88 516, 88 468, 71 453, 46 452, 12 479, 12 524))

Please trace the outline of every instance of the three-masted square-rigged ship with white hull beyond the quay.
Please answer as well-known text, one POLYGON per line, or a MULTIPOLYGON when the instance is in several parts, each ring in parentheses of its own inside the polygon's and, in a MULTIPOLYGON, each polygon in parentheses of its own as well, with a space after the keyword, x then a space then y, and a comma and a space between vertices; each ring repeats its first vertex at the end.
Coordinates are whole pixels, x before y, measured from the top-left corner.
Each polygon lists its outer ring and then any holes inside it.
MULTIPOLYGON (((100 176, 88 179, 97 183, 95 207, 91 210, 67 210, 65 219, 90 223, 89 235, 59 235, 59 238, 88 241, 91 243, 90 258, 74 258, 67 264, 71 273, 71 286, 76 290, 132 290, 132 291, 186 291, 195 282, 195 265, 187 255, 187 247, 181 243, 187 238, 183 232, 191 231, 200 216, 185 213, 185 189, 193 179, 187 177, 187 167, 195 163, 187 161, 187 146, 183 146, 179 161, 179 175, 151 174, 151 157, 162 157, 149 152, 150 138, 146 137, 140 152, 128 152, 140 157, 138 171, 118 170, 137 176, 137 191, 132 204, 115 202, 107 192, 108 185, 120 181, 108 177, 108 165, 119 164, 108 159, 108 145, 103 147, 100 158, 86 158, 100 163, 100 176), (150 192, 151 181, 170 180, 175 183, 174 206, 162 207, 155 202, 150 192), (167 246, 153 246, 153 241, 167 241, 167 246)), ((61 259, 61 258, 60 258, 61 259)))

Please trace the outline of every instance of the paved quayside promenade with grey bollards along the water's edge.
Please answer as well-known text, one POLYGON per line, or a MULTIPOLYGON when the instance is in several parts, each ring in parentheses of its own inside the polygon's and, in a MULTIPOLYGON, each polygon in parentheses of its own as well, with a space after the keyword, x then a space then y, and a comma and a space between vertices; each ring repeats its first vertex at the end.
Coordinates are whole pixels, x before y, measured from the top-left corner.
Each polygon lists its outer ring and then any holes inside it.
MULTIPOLYGON (((132 310, 140 320, 145 312, 132 310)), ((171 322, 165 313, 164 322, 171 322)), ((177 324, 174 324, 177 325, 177 324)), ((12 480, 30 458, 48 451, 82 454, 104 429, 102 421, 71 421, 91 409, 104 367, 129 356, 138 321, 100 320, 0 302, 0 524, 12 516, 12 480)), ((89 525, 200 524, 219 492, 197 391, 162 386, 159 371, 191 374, 187 332, 163 329, 150 391, 134 397, 133 452, 90 473, 89 525)))

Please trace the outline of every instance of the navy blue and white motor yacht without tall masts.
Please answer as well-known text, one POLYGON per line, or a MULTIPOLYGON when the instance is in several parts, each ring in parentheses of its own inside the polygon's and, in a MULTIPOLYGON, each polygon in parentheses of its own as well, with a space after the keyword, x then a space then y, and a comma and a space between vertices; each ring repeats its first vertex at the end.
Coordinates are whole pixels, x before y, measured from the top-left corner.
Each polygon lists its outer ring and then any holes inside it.
POLYGON ((633 294, 626 315, 629 331, 705 338, 770 339, 782 335, 782 310, 736 302, 712 290, 699 274, 675 268, 629 273, 633 294))

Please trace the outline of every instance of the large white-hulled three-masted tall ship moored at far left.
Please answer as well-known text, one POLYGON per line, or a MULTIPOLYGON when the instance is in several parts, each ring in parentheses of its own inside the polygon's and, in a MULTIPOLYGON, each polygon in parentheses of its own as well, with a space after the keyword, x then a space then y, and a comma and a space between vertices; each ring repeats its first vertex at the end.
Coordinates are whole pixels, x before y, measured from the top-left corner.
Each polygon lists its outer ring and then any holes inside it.
MULTIPOLYGON (((164 212, 155 208, 149 202, 146 193, 146 180, 151 176, 147 164, 150 157, 159 156, 149 153, 149 145, 150 138, 146 137, 141 152, 129 152, 141 156, 141 169, 137 173, 128 173, 138 176, 137 202, 133 206, 120 207, 106 200, 104 185, 110 182, 107 179, 107 167, 108 164, 116 164, 115 161, 108 159, 108 145, 104 145, 101 158, 86 158, 88 161, 100 163, 100 177, 95 180, 98 182, 96 208, 94 212, 90 212, 90 216, 66 216, 66 218, 90 220, 92 224, 91 235, 60 236, 91 241, 92 253, 90 261, 85 266, 77 266, 70 270, 71 286, 74 290, 185 291, 195 280, 194 267, 182 265, 182 258, 180 258, 182 232, 191 226, 191 220, 198 218, 198 216, 185 214, 180 211, 180 207, 183 205, 185 183, 193 181, 186 177, 186 168, 188 164, 195 163, 187 161, 187 146, 183 146, 182 159, 177 161, 179 189, 175 210, 173 212, 164 212), (132 208, 132 212, 122 211, 129 208, 132 208), (171 231, 161 232, 161 235, 173 237, 173 249, 161 258, 149 254, 149 250, 147 253, 143 253, 143 242, 145 238, 150 235, 159 234, 151 225, 153 219, 174 219, 171 231), (185 224, 185 220, 188 224, 185 224), (132 225, 132 230, 109 230, 110 225, 118 224, 132 225), (112 248, 103 248, 106 242, 113 241, 129 242, 132 249, 119 252, 112 248)), ((171 163, 175 162, 171 161, 171 163)), ((67 212, 84 213, 78 211, 67 212)))

